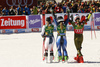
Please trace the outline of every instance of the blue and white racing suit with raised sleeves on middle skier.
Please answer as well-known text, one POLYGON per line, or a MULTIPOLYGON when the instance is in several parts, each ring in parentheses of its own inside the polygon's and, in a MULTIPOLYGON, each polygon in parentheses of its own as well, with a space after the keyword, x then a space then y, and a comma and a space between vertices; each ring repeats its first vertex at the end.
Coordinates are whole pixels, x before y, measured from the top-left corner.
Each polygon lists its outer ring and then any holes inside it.
POLYGON ((66 25, 68 24, 69 19, 66 19, 63 24, 63 29, 61 30, 59 23, 56 21, 56 18, 54 18, 54 22, 57 26, 57 39, 56 39, 56 45, 58 49, 58 56, 68 56, 67 54, 67 40, 66 40, 66 25), (63 54, 61 53, 61 48, 63 50, 63 54))

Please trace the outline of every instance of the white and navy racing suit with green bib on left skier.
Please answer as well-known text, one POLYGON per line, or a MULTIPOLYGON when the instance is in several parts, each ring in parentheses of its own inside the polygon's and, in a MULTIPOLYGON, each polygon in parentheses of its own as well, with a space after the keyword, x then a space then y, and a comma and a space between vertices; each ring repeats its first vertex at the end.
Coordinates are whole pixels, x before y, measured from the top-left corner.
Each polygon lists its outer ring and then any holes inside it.
POLYGON ((54 36, 53 36, 54 26, 49 24, 49 26, 44 25, 42 28, 41 35, 44 37, 44 46, 45 46, 45 56, 48 56, 48 49, 50 49, 50 55, 53 55, 53 45, 54 45, 54 36))

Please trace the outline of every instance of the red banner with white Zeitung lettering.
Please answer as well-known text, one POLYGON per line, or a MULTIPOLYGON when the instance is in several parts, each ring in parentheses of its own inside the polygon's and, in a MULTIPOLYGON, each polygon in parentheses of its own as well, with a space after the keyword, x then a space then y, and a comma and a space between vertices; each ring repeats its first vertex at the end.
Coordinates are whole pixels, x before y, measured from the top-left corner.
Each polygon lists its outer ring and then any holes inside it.
POLYGON ((26 16, 0 17, 0 29, 26 29, 26 16))

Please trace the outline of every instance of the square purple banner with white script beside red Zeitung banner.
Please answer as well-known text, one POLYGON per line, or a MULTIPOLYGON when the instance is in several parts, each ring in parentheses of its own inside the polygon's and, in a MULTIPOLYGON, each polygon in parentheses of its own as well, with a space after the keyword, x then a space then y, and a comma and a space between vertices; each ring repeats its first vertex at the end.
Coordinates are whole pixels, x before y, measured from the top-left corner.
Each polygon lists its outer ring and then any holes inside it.
POLYGON ((41 28, 40 15, 30 15, 28 18, 29 28, 41 28))

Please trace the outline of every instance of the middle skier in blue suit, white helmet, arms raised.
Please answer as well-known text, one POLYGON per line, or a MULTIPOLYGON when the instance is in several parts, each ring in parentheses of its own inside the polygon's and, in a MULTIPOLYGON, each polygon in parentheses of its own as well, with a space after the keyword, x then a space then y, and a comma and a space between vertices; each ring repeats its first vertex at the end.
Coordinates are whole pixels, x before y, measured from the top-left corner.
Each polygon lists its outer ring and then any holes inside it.
POLYGON ((53 12, 54 22, 57 26, 57 39, 56 39, 56 45, 58 50, 58 60, 59 62, 67 61, 68 60, 68 54, 67 54, 67 40, 66 40, 66 25, 68 24, 69 19, 67 18, 67 15, 65 15, 65 18, 62 16, 59 16, 56 19, 55 13, 53 12), (61 52, 61 48, 63 50, 63 53, 61 52))

